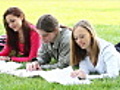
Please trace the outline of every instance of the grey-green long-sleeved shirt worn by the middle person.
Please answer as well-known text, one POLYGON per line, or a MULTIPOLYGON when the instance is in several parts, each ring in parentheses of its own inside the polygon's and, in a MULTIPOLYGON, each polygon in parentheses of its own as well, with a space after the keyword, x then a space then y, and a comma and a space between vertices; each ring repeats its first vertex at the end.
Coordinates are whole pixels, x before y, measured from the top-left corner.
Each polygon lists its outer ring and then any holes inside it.
POLYGON ((60 28, 59 30, 60 33, 53 45, 51 43, 43 43, 38 50, 37 60, 42 69, 64 68, 69 65, 71 31, 67 28, 60 28), (52 58, 56 60, 56 63, 49 63, 52 58))

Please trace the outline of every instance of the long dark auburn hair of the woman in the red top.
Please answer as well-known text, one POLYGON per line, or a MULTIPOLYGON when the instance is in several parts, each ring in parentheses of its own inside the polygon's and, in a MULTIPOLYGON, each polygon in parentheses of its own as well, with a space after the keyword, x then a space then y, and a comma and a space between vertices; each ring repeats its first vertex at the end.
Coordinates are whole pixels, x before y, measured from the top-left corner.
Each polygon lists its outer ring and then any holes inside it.
POLYGON ((7 34, 7 45, 11 48, 11 50, 15 51, 15 56, 17 56, 19 53, 19 47, 18 47, 19 36, 18 36, 18 32, 14 32, 14 30, 9 27, 9 25, 6 21, 7 15, 13 15, 16 17, 20 17, 20 16, 23 17, 22 30, 23 30, 24 40, 25 40, 25 42, 24 42, 24 45, 25 45, 24 46, 24 55, 28 56, 29 51, 30 51, 30 31, 31 31, 30 23, 25 20, 24 13, 17 7, 8 8, 3 15, 4 27, 5 27, 6 34, 7 34))

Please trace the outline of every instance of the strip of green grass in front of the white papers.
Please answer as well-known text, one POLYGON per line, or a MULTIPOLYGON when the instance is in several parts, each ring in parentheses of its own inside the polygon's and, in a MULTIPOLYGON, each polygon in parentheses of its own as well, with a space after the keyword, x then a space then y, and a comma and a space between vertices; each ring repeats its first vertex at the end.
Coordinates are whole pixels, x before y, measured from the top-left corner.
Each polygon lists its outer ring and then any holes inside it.
POLYGON ((119 90, 120 77, 116 79, 96 79, 90 85, 60 85, 48 83, 40 77, 20 78, 1 74, 0 90, 119 90))

